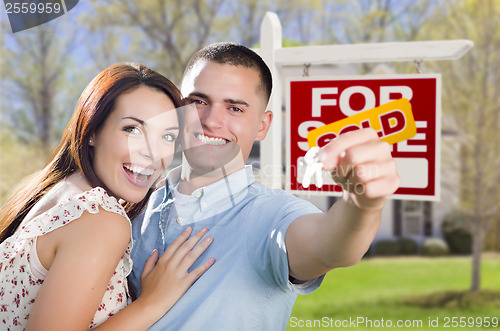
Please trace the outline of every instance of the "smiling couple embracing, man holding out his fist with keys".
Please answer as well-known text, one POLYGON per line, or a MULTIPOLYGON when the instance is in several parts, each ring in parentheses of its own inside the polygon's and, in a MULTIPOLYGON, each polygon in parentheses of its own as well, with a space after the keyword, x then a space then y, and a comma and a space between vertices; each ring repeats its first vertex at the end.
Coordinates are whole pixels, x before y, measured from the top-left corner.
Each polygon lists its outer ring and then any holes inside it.
POLYGON ((233 43, 196 53, 181 93, 143 66, 101 72, 55 157, 2 209, 0 323, 284 330, 298 294, 361 259, 399 178, 364 129, 318 154, 326 171, 350 169, 335 180, 365 187, 327 212, 256 183, 245 162, 271 125, 271 89, 262 59, 233 43), (176 147, 182 164, 160 185, 176 147))

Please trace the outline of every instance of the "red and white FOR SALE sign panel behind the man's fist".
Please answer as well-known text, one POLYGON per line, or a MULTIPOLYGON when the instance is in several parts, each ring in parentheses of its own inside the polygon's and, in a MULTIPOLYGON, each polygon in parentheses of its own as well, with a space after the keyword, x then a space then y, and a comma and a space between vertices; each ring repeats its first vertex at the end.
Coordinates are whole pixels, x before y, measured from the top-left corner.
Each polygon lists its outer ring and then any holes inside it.
MULTIPOLYGON (((323 186, 302 187, 303 157, 309 150, 309 131, 401 98, 411 104, 416 134, 392 145, 392 156, 401 178, 394 198, 433 200, 440 197, 441 76, 437 74, 300 77, 287 81, 287 174, 286 187, 296 193, 338 195, 341 188, 323 172, 323 186)), ((367 112, 368 113, 368 112, 367 112)), ((383 120, 383 117, 381 117, 383 120)), ((387 116, 386 128, 403 127, 405 117, 387 116), (394 123, 390 122, 394 121, 394 123)), ((344 121, 348 122, 348 121, 344 121)), ((369 123, 369 121, 366 121, 369 123)), ((363 125, 366 126, 366 125, 363 125)), ((358 127, 350 125, 344 132, 358 127)), ((319 131, 319 130, 318 130, 319 131)), ((342 132, 342 130, 340 130, 342 132)), ((380 130, 379 136, 386 133, 380 130)), ((335 134, 325 132, 318 143, 335 134)), ((320 145, 321 145, 320 144, 320 145)), ((321 147, 321 146, 320 146, 321 147)))

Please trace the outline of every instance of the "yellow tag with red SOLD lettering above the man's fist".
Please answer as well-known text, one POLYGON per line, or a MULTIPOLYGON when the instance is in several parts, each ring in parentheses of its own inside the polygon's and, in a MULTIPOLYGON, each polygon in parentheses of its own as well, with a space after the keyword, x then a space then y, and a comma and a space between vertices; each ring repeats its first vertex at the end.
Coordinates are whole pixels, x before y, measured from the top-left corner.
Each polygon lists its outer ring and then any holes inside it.
POLYGON ((377 131, 380 140, 389 144, 412 138, 417 133, 417 127, 410 101, 401 98, 321 126, 309 131, 307 142, 309 148, 323 147, 340 134, 368 127, 377 131))

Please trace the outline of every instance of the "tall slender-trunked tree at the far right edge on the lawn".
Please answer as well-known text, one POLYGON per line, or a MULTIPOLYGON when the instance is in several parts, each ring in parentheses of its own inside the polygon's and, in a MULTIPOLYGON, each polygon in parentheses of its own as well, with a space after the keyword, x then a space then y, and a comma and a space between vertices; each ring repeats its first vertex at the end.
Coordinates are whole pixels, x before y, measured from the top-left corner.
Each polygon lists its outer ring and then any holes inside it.
POLYGON ((462 165, 460 205, 473 212, 472 291, 480 289, 481 252, 500 207, 500 2, 448 0, 434 20, 433 39, 471 39, 474 48, 459 61, 437 63, 443 74, 443 107, 459 132, 462 165), (446 17, 446 19, 444 19, 446 17))

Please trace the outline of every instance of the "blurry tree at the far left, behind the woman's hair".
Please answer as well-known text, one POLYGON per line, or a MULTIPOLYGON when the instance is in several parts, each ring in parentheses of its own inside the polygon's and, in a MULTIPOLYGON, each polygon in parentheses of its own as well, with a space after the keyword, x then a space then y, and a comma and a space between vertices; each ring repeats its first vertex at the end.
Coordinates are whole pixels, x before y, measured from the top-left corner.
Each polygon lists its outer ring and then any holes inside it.
POLYGON ((58 28, 54 21, 3 35, 2 116, 18 136, 41 142, 47 151, 55 135, 58 87, 73 45, 73 38, 62 39, 58 28))

